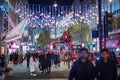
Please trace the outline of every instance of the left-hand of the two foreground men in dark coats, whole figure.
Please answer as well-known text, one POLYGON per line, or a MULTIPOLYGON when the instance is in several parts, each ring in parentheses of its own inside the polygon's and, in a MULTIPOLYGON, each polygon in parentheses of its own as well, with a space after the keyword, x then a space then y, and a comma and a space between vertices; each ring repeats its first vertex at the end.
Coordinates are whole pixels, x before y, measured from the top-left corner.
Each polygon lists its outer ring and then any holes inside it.
POLYGON ((88 50, 82 48, 80 50, 79 59, 73 63, 69 80, 94 80, 94 67, 88 58, 88 50))

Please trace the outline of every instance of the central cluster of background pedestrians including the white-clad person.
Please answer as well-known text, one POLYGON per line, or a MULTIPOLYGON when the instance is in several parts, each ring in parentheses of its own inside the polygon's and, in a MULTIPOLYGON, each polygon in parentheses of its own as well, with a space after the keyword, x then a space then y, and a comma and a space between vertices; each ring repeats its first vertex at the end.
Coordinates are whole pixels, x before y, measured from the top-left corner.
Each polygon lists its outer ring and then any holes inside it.
POLYGON ((51 72, 51 65, 55 67, 60 66, 59 54, 52 54, 50 52, 27 52, 24 59, 27 62, 27 68, 30 68, 32 76, 36 76, 35 63, 38 61, 38 68, 43 75, 51 72))

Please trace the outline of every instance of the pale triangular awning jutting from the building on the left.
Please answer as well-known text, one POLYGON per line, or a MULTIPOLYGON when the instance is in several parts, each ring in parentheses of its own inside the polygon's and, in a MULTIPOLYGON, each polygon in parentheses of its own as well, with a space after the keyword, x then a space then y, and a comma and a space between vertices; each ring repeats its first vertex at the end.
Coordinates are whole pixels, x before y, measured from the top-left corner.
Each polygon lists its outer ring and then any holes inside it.
POLYGON ((9 31, 6 35, 5 42, 10 42, 22 37, 25 26, 27 25, 28 18, 22 20, 16 27, 9 31))

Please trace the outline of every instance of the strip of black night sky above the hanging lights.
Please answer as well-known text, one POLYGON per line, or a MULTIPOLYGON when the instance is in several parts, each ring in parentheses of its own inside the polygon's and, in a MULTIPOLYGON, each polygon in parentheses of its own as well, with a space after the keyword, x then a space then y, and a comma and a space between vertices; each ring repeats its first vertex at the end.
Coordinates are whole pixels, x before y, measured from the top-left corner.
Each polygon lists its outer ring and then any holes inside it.
POLYGON ((72 5, 74 0, 28 0, 29 4, 53 5, 54 2, 58 5, 72 5))

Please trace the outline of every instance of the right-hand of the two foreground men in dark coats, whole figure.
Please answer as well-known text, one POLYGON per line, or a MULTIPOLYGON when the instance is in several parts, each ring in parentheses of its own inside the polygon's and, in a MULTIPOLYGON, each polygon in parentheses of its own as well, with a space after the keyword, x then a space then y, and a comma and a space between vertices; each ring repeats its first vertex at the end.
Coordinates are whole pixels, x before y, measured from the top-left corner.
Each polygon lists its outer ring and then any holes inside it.
POLYGON ((97 80, 116 80, 117 79, 117 65, 114 60, 110 58, 108 49, 103 49, 101 58, 96 62, 97 80))

